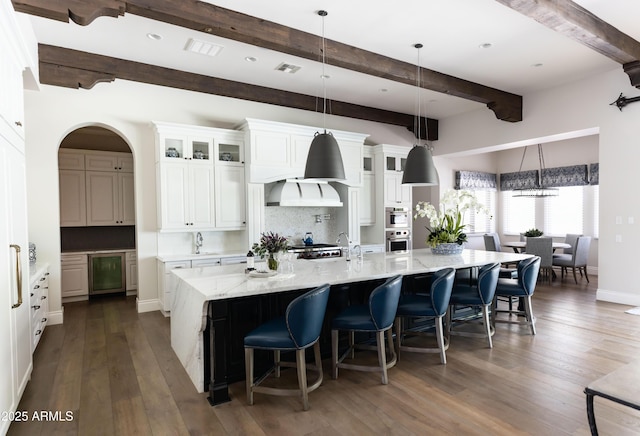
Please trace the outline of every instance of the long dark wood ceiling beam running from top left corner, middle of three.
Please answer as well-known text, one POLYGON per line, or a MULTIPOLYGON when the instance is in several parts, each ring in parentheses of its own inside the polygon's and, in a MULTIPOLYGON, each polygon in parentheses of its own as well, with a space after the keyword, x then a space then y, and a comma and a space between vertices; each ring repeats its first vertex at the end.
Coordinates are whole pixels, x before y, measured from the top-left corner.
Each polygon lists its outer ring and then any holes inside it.
MULTIPOLYGON (((206 32, 254 46, 319 61, 319 37, 198 0, 13 0, 17 11, 86 25, 100 13, 126 12, 206 32), (93 9, 92 9, 93 8, 93 9)), ((326 62, 341 68, 415 85, 416 67, 357 47, 326 39, 326 62)), ((413 43, 413 41, 408 41, 413 43)), ((422 69, 425 89, 484 103, 498 119, 522 121, 522 97, 447 74, 422 69)))

